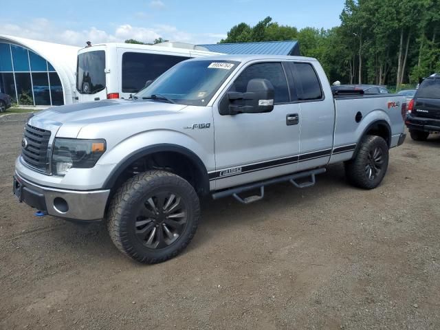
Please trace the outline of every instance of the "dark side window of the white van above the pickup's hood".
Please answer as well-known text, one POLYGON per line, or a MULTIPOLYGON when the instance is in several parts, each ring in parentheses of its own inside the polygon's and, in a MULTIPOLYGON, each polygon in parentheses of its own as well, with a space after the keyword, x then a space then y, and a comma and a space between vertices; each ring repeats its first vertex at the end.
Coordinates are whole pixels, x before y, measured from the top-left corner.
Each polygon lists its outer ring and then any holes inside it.
POLYGON ((126 52, 122 55, 122 91, 137 93, 148 80, 155 80, 189 57, 126 52))

